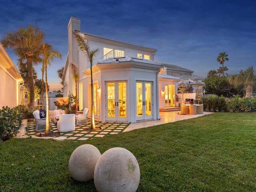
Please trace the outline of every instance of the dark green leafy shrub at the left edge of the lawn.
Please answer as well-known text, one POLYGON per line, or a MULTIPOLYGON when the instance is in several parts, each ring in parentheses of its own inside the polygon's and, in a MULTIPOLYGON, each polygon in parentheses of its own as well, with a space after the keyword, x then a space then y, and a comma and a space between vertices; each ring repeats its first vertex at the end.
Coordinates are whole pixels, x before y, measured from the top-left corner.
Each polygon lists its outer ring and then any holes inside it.
POLYGON ((18 108, 2 107, 0 110, 0 141, 8 140, 17 132, 22 122, 18 108))

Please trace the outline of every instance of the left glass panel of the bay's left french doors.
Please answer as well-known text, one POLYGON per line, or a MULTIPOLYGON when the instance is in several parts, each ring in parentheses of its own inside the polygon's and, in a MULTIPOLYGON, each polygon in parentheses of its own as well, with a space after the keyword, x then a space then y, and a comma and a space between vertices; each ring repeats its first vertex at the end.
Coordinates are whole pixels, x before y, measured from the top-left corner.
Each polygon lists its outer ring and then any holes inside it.
POLYGON ((108 117, 115 117, 115 83, 107 83, 108 117))

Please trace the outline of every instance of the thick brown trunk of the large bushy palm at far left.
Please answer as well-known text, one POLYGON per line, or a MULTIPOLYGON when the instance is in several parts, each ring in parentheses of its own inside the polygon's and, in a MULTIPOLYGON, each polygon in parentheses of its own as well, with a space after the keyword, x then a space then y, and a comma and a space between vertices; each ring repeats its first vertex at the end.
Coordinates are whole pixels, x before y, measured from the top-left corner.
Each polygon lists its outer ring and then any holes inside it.
POLYGON ((27 58, 28 61, 28 84, 30 90, 30 109, 34 108, 34 101, 35 101, 35 86, 34 86, 34 79, 33 79, 33 61, 32 58, 27 58))

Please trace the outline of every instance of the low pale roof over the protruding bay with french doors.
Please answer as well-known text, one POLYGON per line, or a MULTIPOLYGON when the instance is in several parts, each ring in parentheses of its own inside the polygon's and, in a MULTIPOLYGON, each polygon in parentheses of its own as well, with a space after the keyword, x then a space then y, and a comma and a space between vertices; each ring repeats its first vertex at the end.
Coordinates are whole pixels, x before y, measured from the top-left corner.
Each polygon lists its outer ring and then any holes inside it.
POLYGON ((131 62, 131 61, 162 66, 162 64, 155 61, 146 60, 146 59, 136 59, 136 58, 131 58, 129 56, 122 57, 122 58, 107 58, 107 59, 99 60, 98 64, 111 63, 111 62, 131 62))

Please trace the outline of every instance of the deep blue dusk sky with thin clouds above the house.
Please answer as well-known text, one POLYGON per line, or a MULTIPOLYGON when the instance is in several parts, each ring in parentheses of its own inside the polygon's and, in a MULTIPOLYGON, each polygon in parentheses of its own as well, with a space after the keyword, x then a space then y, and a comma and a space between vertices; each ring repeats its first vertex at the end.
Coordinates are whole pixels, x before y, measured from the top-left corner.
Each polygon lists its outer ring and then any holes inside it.
MULTIPOLYGON (((220 52, 229 55, 230 74, 256 67, 255 1, 0 0, 0 10, 0 39, 6 32, 38 23, 46 41, 62 53, 63 60, 54 60, 48 68, 50 83, 58 83, 56 70, 66 60, 71 16, 81 19, 83 32, 156 48, 156 61, 200 76, 220 67, 216 62, 220 52)), ((16 64, 12 50, 7 51, 16 64)), ((40 78, 40 66, 36 70, 40 78)))

